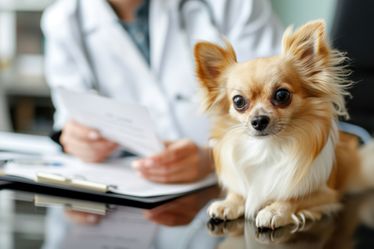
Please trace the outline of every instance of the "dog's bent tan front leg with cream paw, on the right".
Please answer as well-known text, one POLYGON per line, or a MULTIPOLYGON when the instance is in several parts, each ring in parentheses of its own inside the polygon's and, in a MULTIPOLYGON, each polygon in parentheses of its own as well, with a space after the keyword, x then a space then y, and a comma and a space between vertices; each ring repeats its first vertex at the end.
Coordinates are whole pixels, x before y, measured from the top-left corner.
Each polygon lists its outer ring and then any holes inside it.
POLYGON ((303 227, 307 220, 319 220, 323 215, 341 208, 338 195, 331 189, 321 190, 299 199, 275 201, 261 209, 256 216, 256 226, 276 229, 295 224, 303 227))

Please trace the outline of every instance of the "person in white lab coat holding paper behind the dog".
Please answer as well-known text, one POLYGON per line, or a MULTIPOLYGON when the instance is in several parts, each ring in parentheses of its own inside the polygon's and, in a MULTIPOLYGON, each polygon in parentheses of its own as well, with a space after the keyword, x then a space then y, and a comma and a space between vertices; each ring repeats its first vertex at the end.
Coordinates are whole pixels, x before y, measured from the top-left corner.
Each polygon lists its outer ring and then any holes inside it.
POLYGON ((62 131, 64 151, 100 162, 117 144, 68 120, 54 89, 94 90, 141 104, 167 142, 162 153, 134 167, 156 182, 195 181, 213 169, 194 44, 222 43, 224 36, 243 61, 278 53, 283 31, 268 0, 58 0, 43 14, 42 29, 54 128, 62 131))

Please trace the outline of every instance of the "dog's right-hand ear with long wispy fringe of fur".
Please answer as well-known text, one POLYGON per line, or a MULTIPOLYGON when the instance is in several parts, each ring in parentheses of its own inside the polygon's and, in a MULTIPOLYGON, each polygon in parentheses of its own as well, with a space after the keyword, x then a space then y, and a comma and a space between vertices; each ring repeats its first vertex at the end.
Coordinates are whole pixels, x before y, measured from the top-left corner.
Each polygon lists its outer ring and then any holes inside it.
POLYGON ((283 57, 289 59, 308 84, 313 96, 333 103, 337 115, 348 117, 344 96, 352 85, 344 53, 330 48, 322 20, 305 24, 295 32, 288 28, 283 35, 283 57))

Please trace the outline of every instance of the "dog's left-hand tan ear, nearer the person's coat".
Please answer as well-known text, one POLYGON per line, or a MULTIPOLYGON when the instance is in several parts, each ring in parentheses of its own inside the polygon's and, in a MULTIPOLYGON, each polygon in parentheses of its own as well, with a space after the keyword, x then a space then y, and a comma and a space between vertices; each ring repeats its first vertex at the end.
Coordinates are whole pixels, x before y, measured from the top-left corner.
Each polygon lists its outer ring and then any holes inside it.
POLYGON ((210 42, 199 42, 195 46, 196 74, 205 92, 205 108, 210 109, 223 98, 225 71, 236 63, 236 55, 231 44, 226 48, 210 42))

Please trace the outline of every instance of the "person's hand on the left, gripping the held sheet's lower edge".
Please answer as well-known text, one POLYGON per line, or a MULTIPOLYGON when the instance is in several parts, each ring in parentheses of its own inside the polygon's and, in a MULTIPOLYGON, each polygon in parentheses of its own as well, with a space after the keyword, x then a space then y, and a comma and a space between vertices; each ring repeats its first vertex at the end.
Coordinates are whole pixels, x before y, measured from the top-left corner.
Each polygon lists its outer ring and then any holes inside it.
POLYGON ((62 129, 60 142, 64 151, 85 162, 98 163, 106 160, 118 147, 92 128, 69 121, 62 129))

